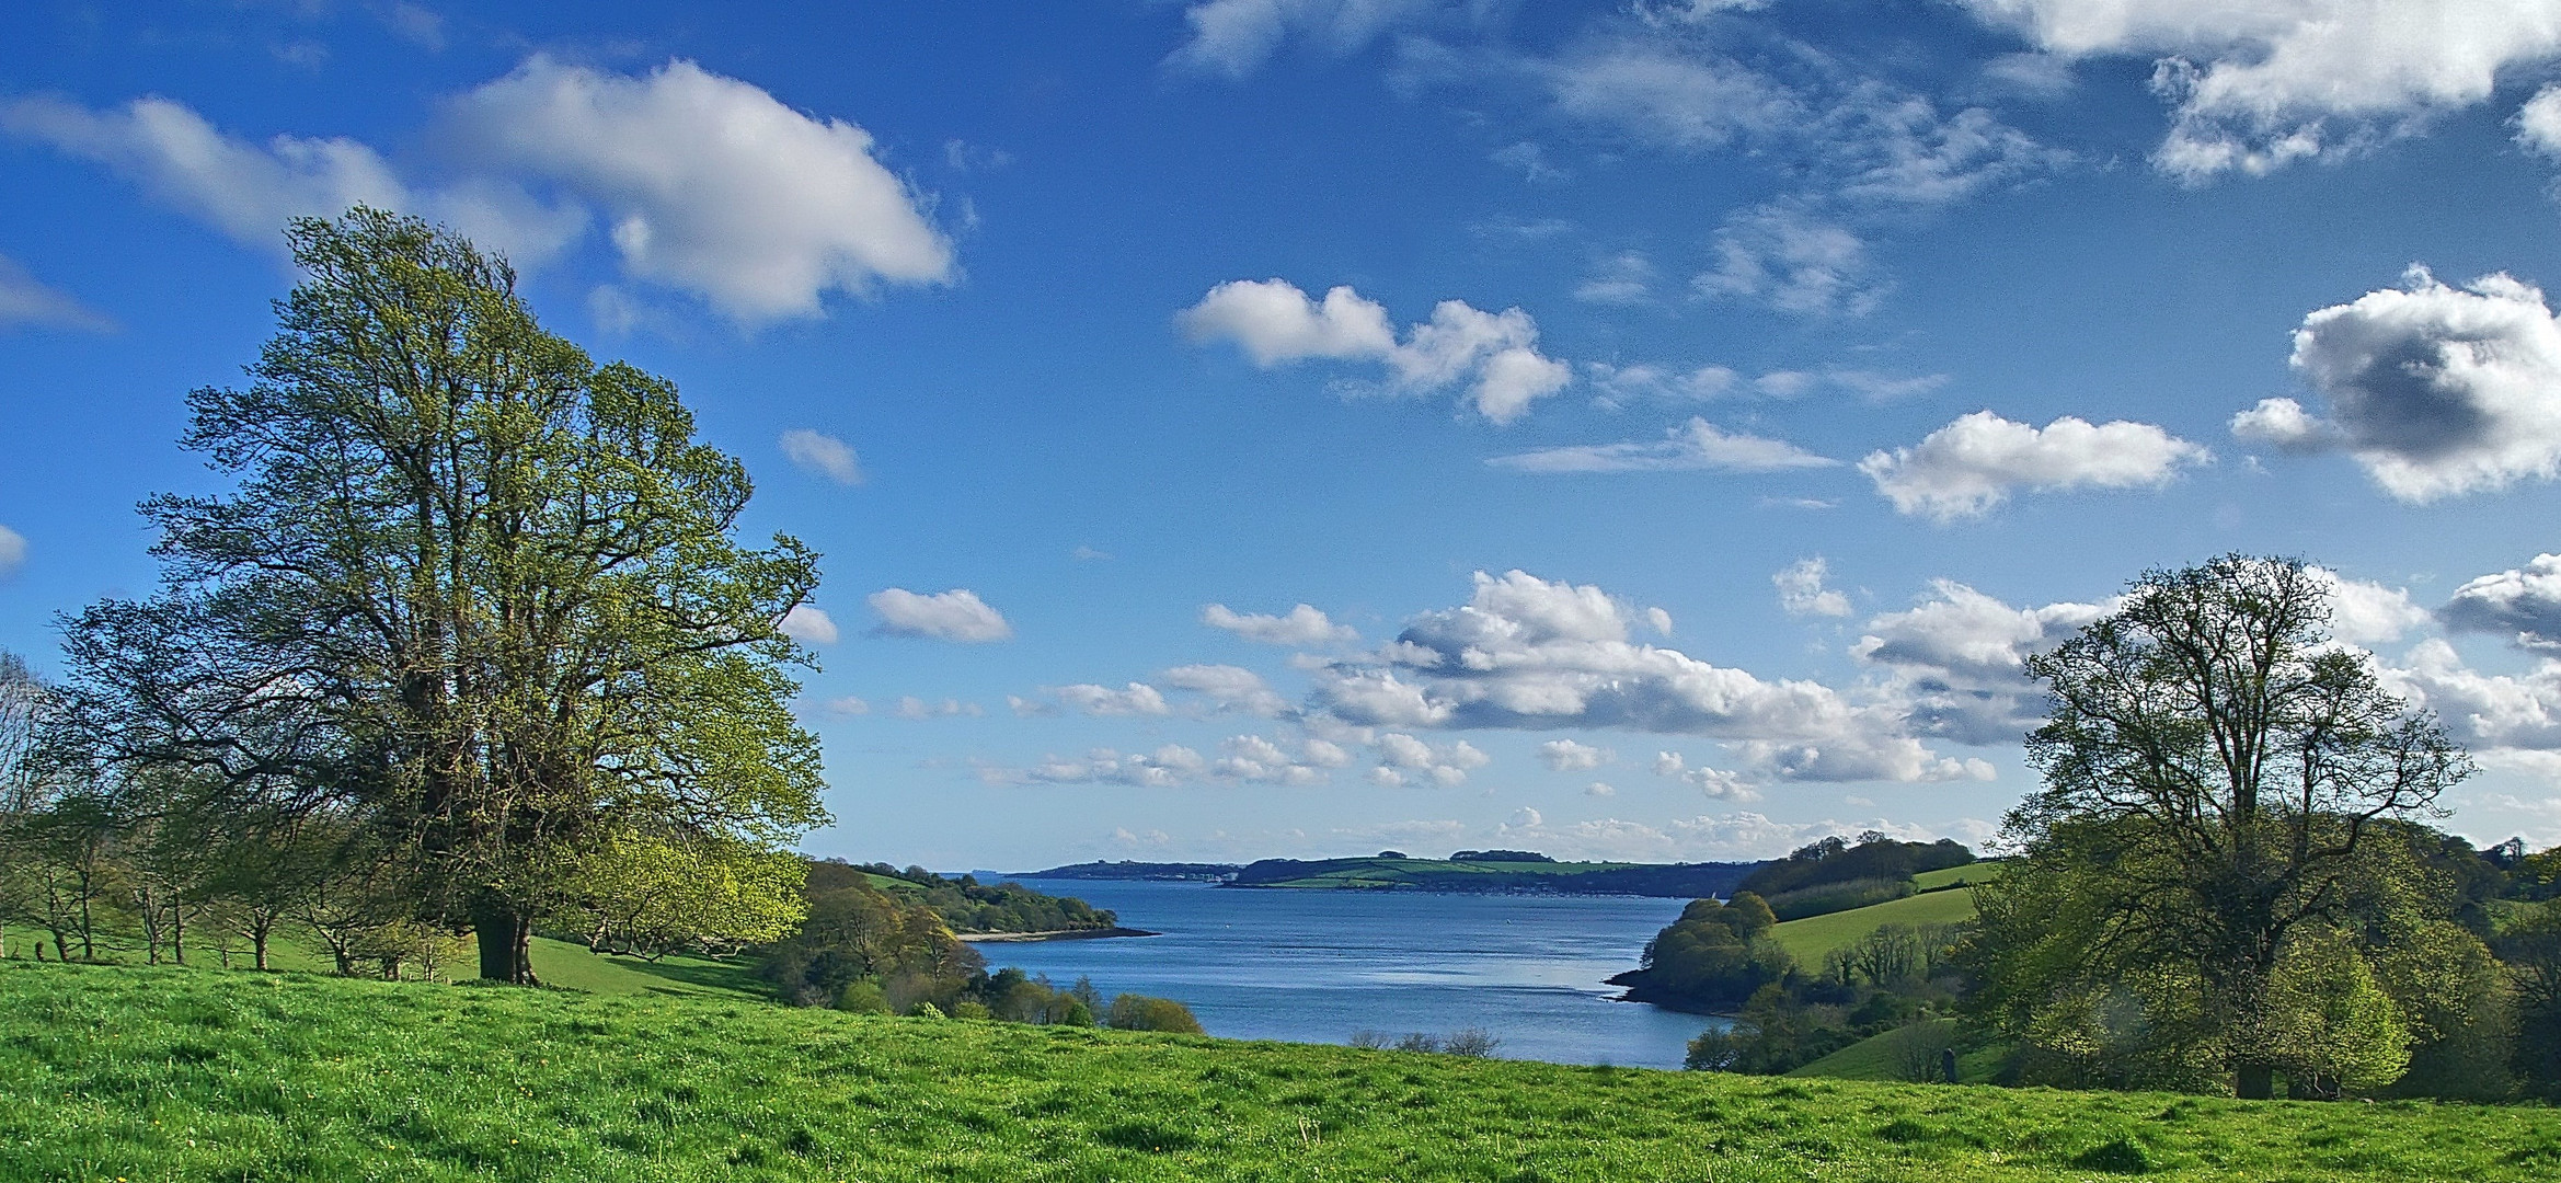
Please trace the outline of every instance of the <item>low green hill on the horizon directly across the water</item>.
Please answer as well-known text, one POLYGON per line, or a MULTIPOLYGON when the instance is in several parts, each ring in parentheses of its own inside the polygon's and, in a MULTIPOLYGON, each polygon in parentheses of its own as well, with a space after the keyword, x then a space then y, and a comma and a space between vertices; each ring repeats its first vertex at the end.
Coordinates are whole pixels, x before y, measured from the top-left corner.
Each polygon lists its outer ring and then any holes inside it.
POLYGON ((1227 886, 1314 891, 1460 891, 1565 896, 1724 896, 1759 863, 1557 863, 1452 858, 1265 858, 1227 886))

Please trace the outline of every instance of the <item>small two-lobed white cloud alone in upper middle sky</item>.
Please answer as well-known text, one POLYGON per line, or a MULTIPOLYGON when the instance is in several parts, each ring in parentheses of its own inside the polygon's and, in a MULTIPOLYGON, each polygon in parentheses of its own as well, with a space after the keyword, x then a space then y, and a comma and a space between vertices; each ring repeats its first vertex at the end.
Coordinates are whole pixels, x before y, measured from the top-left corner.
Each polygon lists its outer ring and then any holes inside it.
POLYGON ((1175 315, 1191 341, 1234 341, 1257 366, 1306 358, 1378 361, 1388 389, 1424 394, 1465 387, 1467 402, 1493 422, 1514 422, 1529 405, 1565 389, 1572 366, 1539 353, 1539 325, 1519 307, 1485 312, 1442 300, 1432 320, 1403 341, 1375 300, 1334 287, 1324 302, 1288 279, 1229 279, 1175 315))

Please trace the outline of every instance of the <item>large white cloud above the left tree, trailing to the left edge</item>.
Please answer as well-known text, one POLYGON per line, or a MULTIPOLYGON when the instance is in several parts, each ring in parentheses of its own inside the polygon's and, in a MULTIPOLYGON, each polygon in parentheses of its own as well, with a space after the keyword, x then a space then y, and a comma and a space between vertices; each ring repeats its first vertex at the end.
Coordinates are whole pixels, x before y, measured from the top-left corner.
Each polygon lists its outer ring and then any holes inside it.
POLYGON ((254 143, 164 97, 110 110, 20 97, 0 102, 0 128, 105 164, 261 248, 282 246, 289 218, 374 205, 535 266, 604 223, 625 274, 740 323, 955 274, 950 241, 873 156, 871 133, 691 61, 612 74, 530 56, 443 105, 430 128, 451 159, 440 177, 405 177, 343 136, 254 143))

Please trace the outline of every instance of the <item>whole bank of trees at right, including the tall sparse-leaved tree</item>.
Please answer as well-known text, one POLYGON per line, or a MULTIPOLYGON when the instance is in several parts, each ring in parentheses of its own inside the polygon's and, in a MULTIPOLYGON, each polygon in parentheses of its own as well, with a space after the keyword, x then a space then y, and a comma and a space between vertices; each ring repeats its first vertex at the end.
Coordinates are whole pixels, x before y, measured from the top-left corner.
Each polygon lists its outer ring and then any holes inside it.
MULTIPOLYGON (((1788 1070, 1959 1014, 2005 1081, 2561 1093, 2561 853, 2428 825, 2471 763, 2328 640, 2313 568, 2146 574, 2028 671, 2051 704, 2028 737, 2044 786, 2008 814, 2018 855, 1975 889, 1977 917, 1880 930, 1816 970, 1770 942, 1757 899, 1693 906, 1647 973, 1749 991, 1693 1065, 1788 1070)), ((1813 876, 1808 853, 1772 883, 1813 876)))

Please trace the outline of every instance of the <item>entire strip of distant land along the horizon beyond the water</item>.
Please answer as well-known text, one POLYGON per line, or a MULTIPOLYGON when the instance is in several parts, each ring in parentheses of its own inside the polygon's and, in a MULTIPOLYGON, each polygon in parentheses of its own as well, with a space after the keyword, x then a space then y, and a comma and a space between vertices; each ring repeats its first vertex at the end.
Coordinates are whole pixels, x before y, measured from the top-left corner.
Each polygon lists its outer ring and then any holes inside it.
POLYGON ((1265 858, 1257 863, 1076 863, 1019 878, 1145 878, 1234 889, 1298 891, 1447 891, 1542 896, 1670 896, 1731 894, 1762 863, 1557 863, 1534 850, 1460 850, 1411 858, 1380 850, 1368 858, 1265 858))

